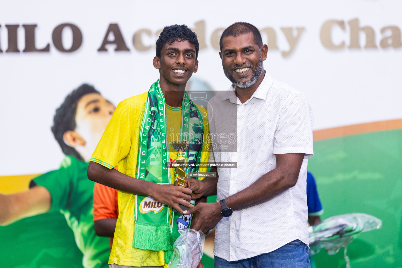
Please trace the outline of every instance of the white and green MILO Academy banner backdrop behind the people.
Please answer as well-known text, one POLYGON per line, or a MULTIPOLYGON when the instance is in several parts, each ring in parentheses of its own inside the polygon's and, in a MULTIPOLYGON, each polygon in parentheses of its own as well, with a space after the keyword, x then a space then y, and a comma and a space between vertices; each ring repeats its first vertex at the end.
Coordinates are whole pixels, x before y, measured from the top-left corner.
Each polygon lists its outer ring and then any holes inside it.
MULTIPOLYGON (((308 0, 261 2, 256 8, 234 0, 231 5, 241 7, 236 12, 211 0, 187 5, 172 16, 161 0, 2 3, 0 267, 107 267, 107 238, 95 236, 90 220, 93 186, 82 163, 67 163, 59 143, 88 161, 110 118, 100 113, 112 113, 121 100, 158 79, 152 59, 165 25, 187 24, 197 33, 199 69, 187 90, 228 89, 219 37, 236 21, 260 29, 269 47, 267 74, 310 102, 314 157, 308 171, 316 179, 322 219, 356 212, 383 221, 382 229, 361 233, 349 245, 351 267, 402 267, 402 3, 308 0), (102 98, 66 98, 82 84, 94 86, 102 98), (54 120, 62 103, 73 109, 70 117, 54 120), (64 137, 63 128, 55 139, 51 127, 70 119, 84 145, 64 137), (4 196, 27 191, 40 174, 47 175, 38 183, 53 185, 50 212, 5 221, 4 196), (74 210, 83 208, 77 200, 85 209, 74 210)), ((212 268, 213 237, 206 241, 203 262, 212 268)), ((343 249, 332 256, 322 250, 314 260, 318 268, 346 266, 343 249)))

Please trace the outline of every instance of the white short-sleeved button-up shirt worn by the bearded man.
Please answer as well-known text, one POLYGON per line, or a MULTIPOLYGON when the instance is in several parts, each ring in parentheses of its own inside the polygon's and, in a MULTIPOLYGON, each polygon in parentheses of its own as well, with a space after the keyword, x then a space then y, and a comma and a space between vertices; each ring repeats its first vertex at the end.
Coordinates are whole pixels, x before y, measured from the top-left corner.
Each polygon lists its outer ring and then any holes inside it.
POLYGON ((308 245, 306 179, 307 159, 313 155, 314 120, 310 104, 301 92, 268 74, 244 103, 234 90, 232 85, 227 94, 210 101, 215 120, 227 114, 219 111, 220 107, 237 106, 237 152, 210 154, 210 161, 237 162, 237 168, 217 169, 217 200, 243 190, 273 170, 275 154, 305 156, 295 186, 265 203, 234 211, 217 224, 213 252, 227 261, 237 261, 271 252, 295 239, 308 245))

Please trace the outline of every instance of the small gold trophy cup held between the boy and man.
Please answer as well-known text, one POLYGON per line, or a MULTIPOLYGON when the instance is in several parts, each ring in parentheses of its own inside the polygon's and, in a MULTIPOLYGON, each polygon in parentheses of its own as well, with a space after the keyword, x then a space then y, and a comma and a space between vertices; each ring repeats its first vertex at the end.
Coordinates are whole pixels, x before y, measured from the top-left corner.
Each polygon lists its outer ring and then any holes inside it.
MULTIPOLYGON (((174 162, 172 163, 172 166, 174 167, 174 171, 176 173, 176 179, 177 179, 177 184, 186 187, 186 179, 187 179, 187 173, 185 172, 185 169, 187 167, 187 159, 183 156, 183 151, 187 149, 190 145, 190 141, 170 141, 170 146, 178 152, 178 155, 174 162)), ((183 199, 185 200, 185 199, 183 199)), ((185 200, 189 202, 189 200, 185 200)), ((183 205, 178 205, 180 209, 187 210, 188 207, 185 207, 183 205)))

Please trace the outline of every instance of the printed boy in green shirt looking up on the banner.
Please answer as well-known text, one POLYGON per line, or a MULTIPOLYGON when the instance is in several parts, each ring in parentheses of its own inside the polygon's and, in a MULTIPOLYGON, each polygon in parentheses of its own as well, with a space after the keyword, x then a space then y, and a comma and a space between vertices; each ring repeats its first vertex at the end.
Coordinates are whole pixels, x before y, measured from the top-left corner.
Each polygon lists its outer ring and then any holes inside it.
POLYGON ((60 211, 84 254, 84 268, 108 267, 109 243, 95 234, 92 221, 94 182, 86 170, 115 106, 92 86, 71 92, 56 110, 51 128, 66 158, 60 168, 34 178, 29 190, 0 194, 0 225, 47 212, 60 211))

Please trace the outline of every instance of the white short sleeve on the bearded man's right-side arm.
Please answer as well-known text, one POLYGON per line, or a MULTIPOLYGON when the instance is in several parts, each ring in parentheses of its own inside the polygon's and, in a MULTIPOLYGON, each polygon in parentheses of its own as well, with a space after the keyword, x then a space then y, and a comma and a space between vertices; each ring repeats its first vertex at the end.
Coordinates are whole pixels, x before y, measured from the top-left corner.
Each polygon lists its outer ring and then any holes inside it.
POLYGON ((304 153, 313 156, 313 113, 306 97, 293 92, 283 103, 274 135, 273 153, 304 153))

